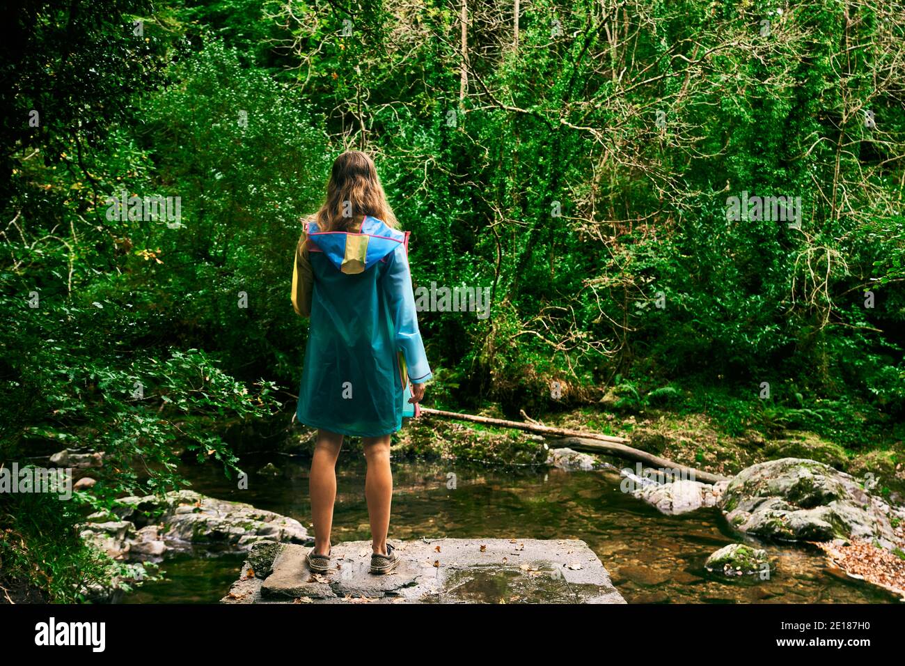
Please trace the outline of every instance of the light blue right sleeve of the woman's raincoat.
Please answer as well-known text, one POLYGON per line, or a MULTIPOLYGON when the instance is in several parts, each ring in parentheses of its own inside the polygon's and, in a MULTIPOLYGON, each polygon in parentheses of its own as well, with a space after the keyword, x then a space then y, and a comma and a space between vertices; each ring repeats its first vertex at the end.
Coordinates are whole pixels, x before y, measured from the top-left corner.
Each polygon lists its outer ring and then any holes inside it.
POLYGON ((424 383, 433 377, 424 353, 424 342, 418 331, 418 313, 414 306, 412 275, 408 268, 405 246, 400 245, 389 255, 384 275, 386 302, 395 331, 396 351, 403 352, 408 380, 424 383))

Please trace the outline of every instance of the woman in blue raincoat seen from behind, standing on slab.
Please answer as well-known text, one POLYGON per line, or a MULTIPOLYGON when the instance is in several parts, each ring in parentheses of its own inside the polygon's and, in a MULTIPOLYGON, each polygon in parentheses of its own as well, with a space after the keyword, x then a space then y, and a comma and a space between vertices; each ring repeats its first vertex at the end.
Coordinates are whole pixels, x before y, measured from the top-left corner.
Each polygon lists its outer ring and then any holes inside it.
POLYGON ((292 306, 310 316, 296 415, 318 429, 310 477, 314 548, 308 554, 315 572, 330 567, 335 466, 345 435, 362 438, 367 459, 371 573, 385 574, 398 564, 386 543, 390 435, 402 426, 408 382, 408 402, 417 410, 432 375, 418 333, 408 232, 396 225, 374 162, 349 150, 333 162, 327 200, 296 248, 292 306))

